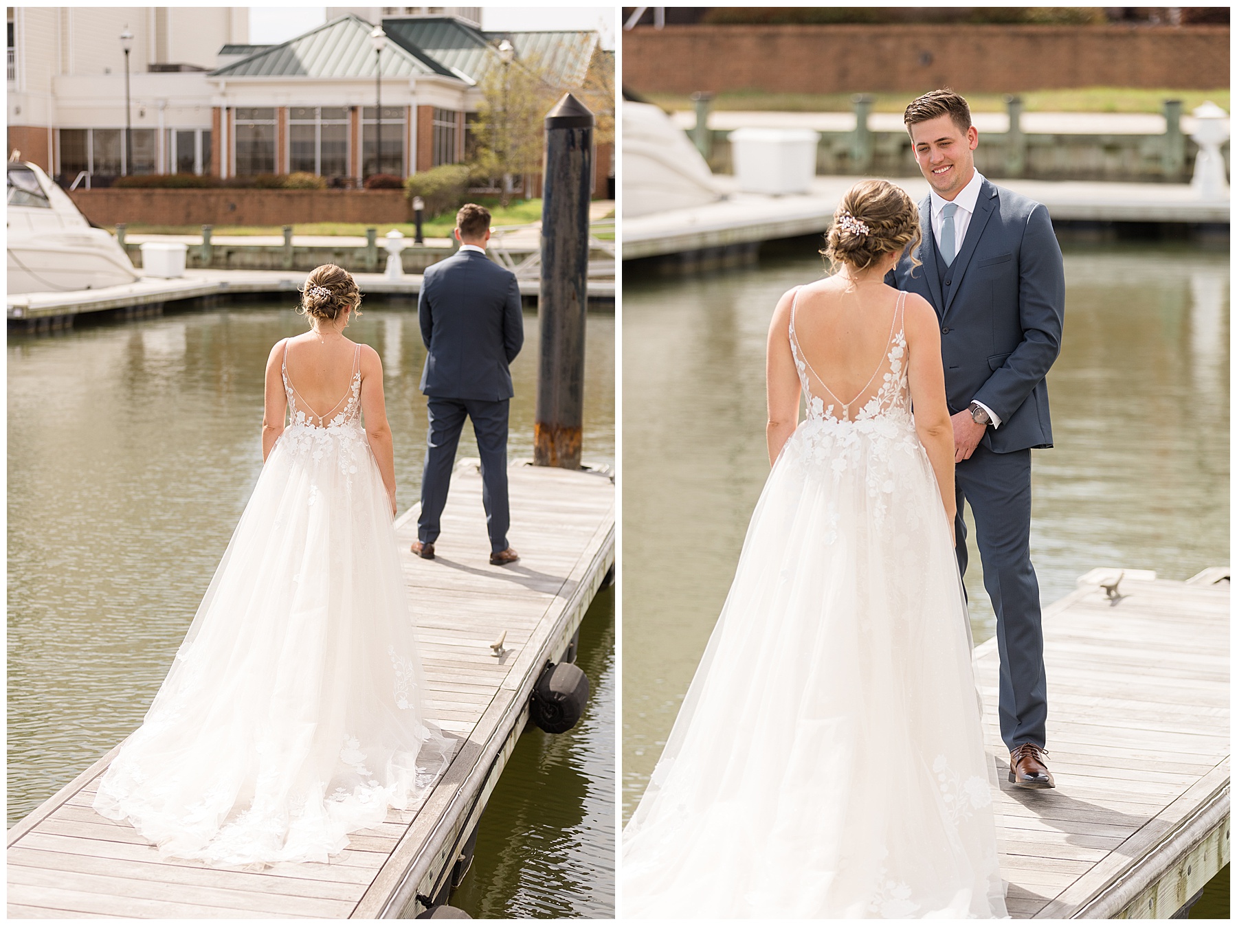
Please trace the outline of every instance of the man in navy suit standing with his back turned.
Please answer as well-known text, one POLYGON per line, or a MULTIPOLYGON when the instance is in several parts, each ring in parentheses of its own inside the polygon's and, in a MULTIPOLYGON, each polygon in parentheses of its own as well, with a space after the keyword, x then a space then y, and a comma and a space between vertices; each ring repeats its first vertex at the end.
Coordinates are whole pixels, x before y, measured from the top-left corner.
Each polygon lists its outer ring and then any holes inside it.
POLYGON ((481 456, 481 502, 490 533, 490 563, 520 559, 507 543, 507 412, 515 389, 508 365, 524 342, 516 274, 485 256, 490 211, 469 203, 455 216, 460 248, 426 268, 417 303, 426 368, 421 391, 429 407, 421 517, 412 551, 434 558, 455 448, 473 419, 481 456))

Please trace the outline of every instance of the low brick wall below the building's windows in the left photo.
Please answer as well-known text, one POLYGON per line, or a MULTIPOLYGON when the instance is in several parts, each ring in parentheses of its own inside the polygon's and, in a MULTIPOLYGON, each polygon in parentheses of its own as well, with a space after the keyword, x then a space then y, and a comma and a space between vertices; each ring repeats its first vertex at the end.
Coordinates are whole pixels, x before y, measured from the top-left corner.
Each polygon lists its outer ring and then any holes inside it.
MULTIPOLYGON (((24 152, 25 153, 25 152, 24 152)), ((372 189, 75 189, 95 225, 297 225, 409 221, 403 190, 372 189)))

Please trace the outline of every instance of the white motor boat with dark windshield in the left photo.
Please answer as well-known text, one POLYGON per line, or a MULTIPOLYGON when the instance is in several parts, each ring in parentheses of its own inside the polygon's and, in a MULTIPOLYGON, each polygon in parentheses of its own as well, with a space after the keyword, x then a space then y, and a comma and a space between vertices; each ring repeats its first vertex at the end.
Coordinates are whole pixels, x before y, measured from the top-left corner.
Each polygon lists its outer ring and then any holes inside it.
POLYGON ((37 166, 9 162, 9 294, 100 289, 140 273, 37 166))

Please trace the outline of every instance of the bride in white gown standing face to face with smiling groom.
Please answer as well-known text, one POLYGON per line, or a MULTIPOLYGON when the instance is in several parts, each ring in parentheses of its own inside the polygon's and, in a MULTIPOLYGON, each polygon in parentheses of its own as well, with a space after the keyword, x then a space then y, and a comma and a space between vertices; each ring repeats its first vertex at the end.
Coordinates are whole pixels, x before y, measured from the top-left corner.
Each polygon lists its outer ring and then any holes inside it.
POLYGON ((1006 916, 939 321, 882 282, 919 235, 905 193, 856 184, 840 271, 778 303, 773 469, 623 832, 623 916, 1006 916))

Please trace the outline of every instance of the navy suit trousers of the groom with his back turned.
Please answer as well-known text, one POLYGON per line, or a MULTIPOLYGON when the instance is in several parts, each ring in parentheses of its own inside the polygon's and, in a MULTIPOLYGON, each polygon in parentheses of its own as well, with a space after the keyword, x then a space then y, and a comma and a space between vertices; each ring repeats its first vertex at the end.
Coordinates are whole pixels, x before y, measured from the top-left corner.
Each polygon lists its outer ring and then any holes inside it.
POLYGON ((434 543, 442 530, 443 508, 455 466, 455 448, 460 443, 464 419, 473 419, 476 449, 481 455, 481 503, 490 533, 490 550, 507 549, 511 507, 507 502, 507 410, 511 399, 439 398, 427 396, 429 435, 426 444, 426 471, 421 477, 421 517, 417 537, 434 543))

